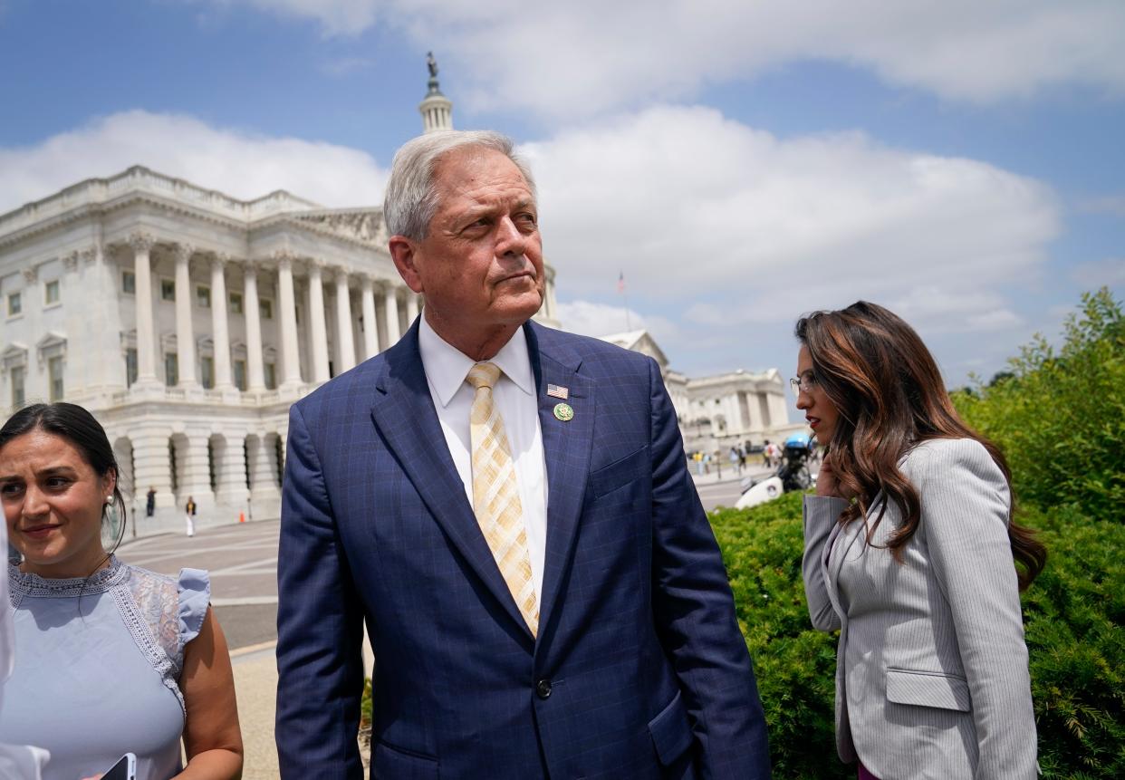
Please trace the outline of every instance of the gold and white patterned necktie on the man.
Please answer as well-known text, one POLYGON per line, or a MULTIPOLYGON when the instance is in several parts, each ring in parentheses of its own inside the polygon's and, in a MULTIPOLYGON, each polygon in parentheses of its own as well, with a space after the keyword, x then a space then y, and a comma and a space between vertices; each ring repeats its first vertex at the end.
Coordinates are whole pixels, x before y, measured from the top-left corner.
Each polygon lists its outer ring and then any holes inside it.
POLYGON ((539 599, 531 577, 531 556, 520 503, 512 450, 504 433, 504 421, 493 403, 493 387, 500 367, 478 362, 465 380, 476 395, 469 412, 469 441, 472 448, 472 511, 485 535, 500 573, 528 622, 531 635, 539 633, 539 599))

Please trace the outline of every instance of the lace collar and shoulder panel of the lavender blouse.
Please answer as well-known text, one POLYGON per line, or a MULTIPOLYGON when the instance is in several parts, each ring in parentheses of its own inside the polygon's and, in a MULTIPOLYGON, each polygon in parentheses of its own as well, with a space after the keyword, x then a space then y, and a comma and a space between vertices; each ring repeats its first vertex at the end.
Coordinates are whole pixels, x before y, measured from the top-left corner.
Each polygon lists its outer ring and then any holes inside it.
MULTIPOLYGON (((179 584, 174 576, 156 574, 145 568, 123 564, 110 556, 109 566, 90 577, 47 580, 26 574, 8 565, 12 609, 18 609, 26 597, 78 598, 109 592, 122 615, 122 620, 137 647, 160 674, 164 685, 180 702, 187 717, 179 678, 183 671, 184 637, 180 634, 179 584)), ((196 628, 198 634, 198 627, 196 628)), ((187 637, 187 640, 195 636, 187 637)))

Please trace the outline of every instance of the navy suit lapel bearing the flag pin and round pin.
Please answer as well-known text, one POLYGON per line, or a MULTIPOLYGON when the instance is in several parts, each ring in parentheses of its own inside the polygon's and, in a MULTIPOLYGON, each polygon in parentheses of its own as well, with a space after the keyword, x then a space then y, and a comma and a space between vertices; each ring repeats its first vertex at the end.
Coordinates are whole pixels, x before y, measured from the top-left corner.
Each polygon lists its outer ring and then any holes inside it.
POLYGON ((551 617, 559 608, 561 582, 570 567, 574 543, 586 495, 590 456, 594 440, 595 398, 593 383, 578 374, 582 358, 550 340, 549 332, 533 324, 525 326, 528 350, 536 374, 539 424, 543 434, 547 461, 547 554, 543 561, 543 592, 539 599, 539 638, 551 629, 551 617), (547 385, 566 387, 566 401, 547 395, 547 385), (555 407, 566 403, 574 411, 570 420, 559 420, 555 407))

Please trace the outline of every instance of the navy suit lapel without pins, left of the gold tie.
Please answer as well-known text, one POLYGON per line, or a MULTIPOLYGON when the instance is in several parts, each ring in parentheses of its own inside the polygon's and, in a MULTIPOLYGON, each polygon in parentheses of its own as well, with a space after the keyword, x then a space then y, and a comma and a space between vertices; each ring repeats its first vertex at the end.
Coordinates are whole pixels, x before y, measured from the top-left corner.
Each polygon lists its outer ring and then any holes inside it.
POLYGON ((530 640, 531 631, 480 532, 449 455, 422 368, 417 322, 387 351, 386 370, 377 380, 371 404, 371 419, 434 520, 530 640))

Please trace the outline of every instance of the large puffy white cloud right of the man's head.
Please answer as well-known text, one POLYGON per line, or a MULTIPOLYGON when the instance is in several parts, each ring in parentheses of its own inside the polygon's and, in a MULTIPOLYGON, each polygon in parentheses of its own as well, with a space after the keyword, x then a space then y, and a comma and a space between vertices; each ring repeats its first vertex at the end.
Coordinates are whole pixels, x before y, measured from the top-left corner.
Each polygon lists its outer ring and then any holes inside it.
MULTIPOLYGON (((1060 231, 1044 185, 858 134, 778 140, 705 108, 656 107, 528 144, 560 290, 698 324, 858 297, 928 317, 1005 306, 1060 231)), ((990 321, 998 324, 999 319, 990 321)))

